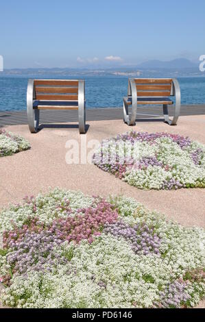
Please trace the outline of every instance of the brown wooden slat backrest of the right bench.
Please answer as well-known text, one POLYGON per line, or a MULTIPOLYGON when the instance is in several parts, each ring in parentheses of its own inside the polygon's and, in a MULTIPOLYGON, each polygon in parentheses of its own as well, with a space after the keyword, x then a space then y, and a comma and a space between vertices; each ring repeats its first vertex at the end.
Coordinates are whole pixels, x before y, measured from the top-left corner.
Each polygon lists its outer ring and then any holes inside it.
POLYGON ((138 97, 169 97, 172 79, 170 78, 135 78, 138 97))

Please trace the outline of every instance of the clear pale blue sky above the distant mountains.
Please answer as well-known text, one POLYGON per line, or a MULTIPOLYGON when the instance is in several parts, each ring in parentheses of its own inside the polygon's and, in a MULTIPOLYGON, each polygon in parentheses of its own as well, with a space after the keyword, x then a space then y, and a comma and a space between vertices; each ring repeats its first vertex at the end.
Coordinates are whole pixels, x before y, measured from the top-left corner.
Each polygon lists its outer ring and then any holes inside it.
POLYGON ((128 66, 205 54, 204 0, 0 3, 4 68, 128 66))

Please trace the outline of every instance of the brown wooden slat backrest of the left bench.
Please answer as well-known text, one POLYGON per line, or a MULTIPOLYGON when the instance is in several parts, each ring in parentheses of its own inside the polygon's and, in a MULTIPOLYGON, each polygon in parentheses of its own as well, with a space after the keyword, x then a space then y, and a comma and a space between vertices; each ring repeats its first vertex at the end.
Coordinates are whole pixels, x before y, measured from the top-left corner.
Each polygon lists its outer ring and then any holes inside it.
POLYGON ((39 101, 78 100, 78 81, 75 79, 36 79, 34 86, 39 101))

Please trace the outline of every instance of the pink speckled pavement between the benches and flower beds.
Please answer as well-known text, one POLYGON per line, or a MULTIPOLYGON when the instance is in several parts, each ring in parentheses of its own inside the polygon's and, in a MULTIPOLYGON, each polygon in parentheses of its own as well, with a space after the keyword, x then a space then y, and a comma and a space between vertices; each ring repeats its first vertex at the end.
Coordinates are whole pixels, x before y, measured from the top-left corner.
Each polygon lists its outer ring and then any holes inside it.
MULTIPOLYGON (((143 132, 170 132, 189 136, 205 144, 205 116, 181 116, 177 126, 159 121, 138 122, 128 127, 123 121, 89 121, 86 140, 109 138, 131 129, 143 132)), ((93 164, 67 164, 67 140, 80 143, 78 128, 46 127, 31 134, 27 125, 5 127, 20 134, 32 148, 0 159, 0 208, 22 201, 25 195, 47 193, 49 187, 82 190, 88 195, 118 195, 134 197, 149 209, 155 209, 185 226, 205 227, 204 189, 139 190, 113 175, 101 171, 93 164)), ((91 149, 88 149, 88 152, 91 149)), ((200 304, 204 307, 204 303, 200 304)))

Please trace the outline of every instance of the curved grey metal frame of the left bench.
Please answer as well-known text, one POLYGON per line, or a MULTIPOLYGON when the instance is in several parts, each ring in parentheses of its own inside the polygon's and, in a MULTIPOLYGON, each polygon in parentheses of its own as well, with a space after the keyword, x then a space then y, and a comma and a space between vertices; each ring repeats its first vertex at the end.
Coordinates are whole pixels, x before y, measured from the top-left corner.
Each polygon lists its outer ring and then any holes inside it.
MULTIPOLYGON (((37 79, 36 79, 37 80, 37 79)), ((41 80, 41 79, 40 79, 41 80)), ((50 79, 45 79, 45 81, 49 81, 50 79)), ((52 79, 54 81, 54 79, 52 79)), ((58 79, 56 79, 58 80, 58 79)), ((63 81, 67 81, 67 79, 63 79, 63 81)), ((73 81, 73 79, 71 79, 73 81)), ((57 101, 57 100, 56 100, 57 101)), ((36 108, 34 103, 36 102, 36 90, 34 79, 29 79, 27 84, 27 121, 29 125, 29 130, 32 133, 38 132, 38 125, 40 119, 40 108, 36 108)), ((51 102, 51 101, 50 101, 51 102)), ((60 101, 64 105, 60 106, 60 109, 70 110, 69 105, 71 102, 60 101)), ((49 101, 47 101, 49 103, 49 101)), ((53 101, 52 101, 53 103, 53 101)), ((76 106, 75 109, 78 110, 78 121, 79 121, 79 132, 80 134, 86 133, 86 101, 85 101, 85 82, 84 80, 78 80, 78 108, 76 106)), ((49 109, 49 108, 48 108, 49 109)), ((52 110, 58 110, 58 107, 55 108, 53 106, 52 110)))

